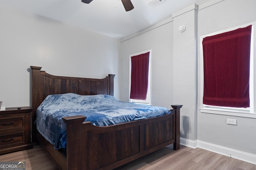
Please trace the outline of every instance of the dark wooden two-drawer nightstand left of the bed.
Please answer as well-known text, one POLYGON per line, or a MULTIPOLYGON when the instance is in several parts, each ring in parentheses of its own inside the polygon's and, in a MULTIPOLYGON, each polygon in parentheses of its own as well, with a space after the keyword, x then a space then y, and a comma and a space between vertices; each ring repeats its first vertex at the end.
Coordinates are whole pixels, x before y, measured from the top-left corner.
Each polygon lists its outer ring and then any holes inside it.
POLYGON ((31 149, 31 107, 0 111, 0 154, 31 149))

